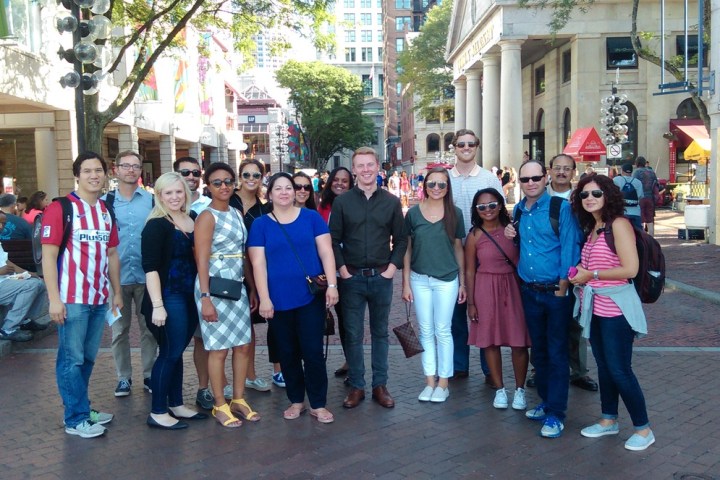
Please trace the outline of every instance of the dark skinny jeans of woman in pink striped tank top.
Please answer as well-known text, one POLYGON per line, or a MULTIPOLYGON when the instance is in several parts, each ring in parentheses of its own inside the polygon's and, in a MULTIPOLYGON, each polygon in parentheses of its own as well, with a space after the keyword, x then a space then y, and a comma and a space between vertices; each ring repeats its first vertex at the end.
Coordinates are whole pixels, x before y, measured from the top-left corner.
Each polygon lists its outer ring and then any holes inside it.
POLYGON ((648 418, 645 397, 632 371, 634 339, 635 332, 624 316, 592 316, 590 345, 598 367, 603 418, 617 418, 620 396, 635 429, 642 430, 648 426, 648 418))

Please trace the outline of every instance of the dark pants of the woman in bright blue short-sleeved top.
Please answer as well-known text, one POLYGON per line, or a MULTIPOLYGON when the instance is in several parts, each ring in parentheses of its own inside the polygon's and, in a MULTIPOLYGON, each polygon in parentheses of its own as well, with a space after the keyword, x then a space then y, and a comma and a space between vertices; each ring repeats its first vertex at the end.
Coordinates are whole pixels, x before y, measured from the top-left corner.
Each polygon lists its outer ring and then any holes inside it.
POLYGON ((292 310, 276 310, 268 327, 277 344, 288 400, 303 403, 307 391, 310 407, 324 408, 328 384, 323 356, 324 296, 292 310))

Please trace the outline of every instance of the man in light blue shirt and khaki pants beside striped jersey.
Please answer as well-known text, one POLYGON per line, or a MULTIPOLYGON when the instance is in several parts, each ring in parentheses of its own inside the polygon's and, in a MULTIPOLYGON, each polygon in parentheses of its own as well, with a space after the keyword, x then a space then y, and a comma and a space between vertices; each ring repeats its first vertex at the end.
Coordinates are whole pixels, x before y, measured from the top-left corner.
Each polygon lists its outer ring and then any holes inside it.
POLYGON ((132 385, 132 366, 130 363, 130 320, 132 303, 135 302, 135 314, 140 326, 140 355, 143 366, 144 388, 150 391, 150 374, 157 354, 157 342, 145 326, 145 318, 140 313, 145 292, 145 272, 142 269, 140 237, 145 220, 153 207, 152 195, 138 185, 142 175, 142 158, 132 151, 120 152, 115 157, 115 177, 118 188, 103 197, 115 211, 120 244, 120 284, 122 285, 123 308, 120 317, 112 324, 112 352, 118 385, 116 397, 130 395, 132 385))

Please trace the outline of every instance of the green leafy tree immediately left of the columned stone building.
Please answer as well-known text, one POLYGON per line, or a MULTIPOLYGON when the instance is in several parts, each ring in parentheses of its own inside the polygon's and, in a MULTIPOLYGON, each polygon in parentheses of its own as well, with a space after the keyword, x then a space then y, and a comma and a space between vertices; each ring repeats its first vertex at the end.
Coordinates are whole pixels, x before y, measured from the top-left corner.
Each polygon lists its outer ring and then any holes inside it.
POLYGON ((399 80, 412 86, 415 109, 423 118, 447 118, 455 108, 452 65, 445 60, 452 6, 447 0, 431 8, 420 35, 398 56, 399 80))

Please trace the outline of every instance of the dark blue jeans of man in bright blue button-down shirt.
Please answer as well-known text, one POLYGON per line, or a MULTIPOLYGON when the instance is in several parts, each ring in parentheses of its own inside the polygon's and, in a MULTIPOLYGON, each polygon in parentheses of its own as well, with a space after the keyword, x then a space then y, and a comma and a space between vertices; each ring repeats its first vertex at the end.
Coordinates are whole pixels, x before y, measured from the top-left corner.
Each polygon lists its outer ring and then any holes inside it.
POLYGON ((521 287, 525 322, 532 340, 535 385, 545 413, 565 418, 570 373, 568 329, 573 297, 521 287))

